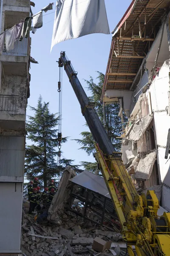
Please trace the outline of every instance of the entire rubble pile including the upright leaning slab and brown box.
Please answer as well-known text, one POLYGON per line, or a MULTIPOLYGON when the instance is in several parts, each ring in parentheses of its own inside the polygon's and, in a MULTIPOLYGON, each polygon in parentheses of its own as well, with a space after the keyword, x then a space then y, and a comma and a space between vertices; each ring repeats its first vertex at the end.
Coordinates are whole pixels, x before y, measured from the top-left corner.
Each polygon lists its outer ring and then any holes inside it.
MULTIPOLYGON (((69 198, 69 179, 74 175, 70 167, 63 172, 45 223, 35 221, 34 215, 28 215, 28 205, 24 205, 24 256, 125 255, 126 244, 122 242, 120 233, 110 231, 111 228, 105 225, 92 223, 65 207, 69 198)), ((77 204, 76 207, 81 212, 82 206, 77 204)))

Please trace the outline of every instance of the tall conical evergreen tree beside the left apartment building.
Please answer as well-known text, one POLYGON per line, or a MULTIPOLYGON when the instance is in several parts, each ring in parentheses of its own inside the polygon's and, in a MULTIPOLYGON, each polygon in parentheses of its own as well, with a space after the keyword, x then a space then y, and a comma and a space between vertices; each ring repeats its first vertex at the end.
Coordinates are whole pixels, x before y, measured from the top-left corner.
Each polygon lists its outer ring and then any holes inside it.
MULTIPOLYGON (((26 131, 27 139, 33 144, 26 146, 25 174, 29 180, 38 176, 40 183, 47 186, 48 180, 58 175, 59 172, 59 165, 56 161, 59 116, 50 113, 49 102, 42 102, 41 96, 38 99, 37 108, 30 108, 34 111, 34 116, 28 116, 26 131)), ((62 143, 66 140, 67 138, 62 138, 62 143)), ((72 161, 65 160, 65 163, 70 165, 72 161)))

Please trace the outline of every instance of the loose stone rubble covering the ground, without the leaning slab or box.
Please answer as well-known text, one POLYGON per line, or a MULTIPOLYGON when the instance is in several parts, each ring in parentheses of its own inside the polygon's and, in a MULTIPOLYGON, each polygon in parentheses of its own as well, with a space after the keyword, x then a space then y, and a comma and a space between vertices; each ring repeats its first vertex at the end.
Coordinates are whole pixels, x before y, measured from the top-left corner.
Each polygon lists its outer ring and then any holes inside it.
MULTIPOLYGON (((96 236, 105 241, 122 239, 121 234, 86 221, 72 212, 62 211, 60 216, 55 224, 48 222, 48 224, 40 225, 34 221, 34 216, 24 214, 21 243, 24 256, 90 256, 97 254, 92 249, 96 236), (31 233, 31 227, 34 234, 31 233), (71 250, 68 250, 68 243, 71 250)), ((104 256, 104 253, 113 255, 107 249, 100 255, 104 256)))

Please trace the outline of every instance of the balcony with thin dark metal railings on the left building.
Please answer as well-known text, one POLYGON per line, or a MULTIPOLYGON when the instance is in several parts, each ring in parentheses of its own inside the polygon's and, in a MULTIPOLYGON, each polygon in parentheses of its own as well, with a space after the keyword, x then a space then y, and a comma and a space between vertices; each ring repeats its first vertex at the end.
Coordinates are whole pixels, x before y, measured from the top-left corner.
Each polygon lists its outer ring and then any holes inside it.
POLYGON ((22 131, 25 129, 26 110, 17 95, 0 94, 0 128, 22 131))

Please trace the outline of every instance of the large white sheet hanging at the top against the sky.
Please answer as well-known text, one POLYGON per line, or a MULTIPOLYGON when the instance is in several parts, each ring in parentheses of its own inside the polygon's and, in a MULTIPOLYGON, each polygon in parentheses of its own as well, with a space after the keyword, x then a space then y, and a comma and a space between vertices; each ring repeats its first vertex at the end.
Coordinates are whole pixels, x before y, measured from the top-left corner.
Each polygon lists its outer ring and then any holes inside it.
POLYGON ((58 0, 51 49, 59 42, 83 35, 110 34, 105 0, 58 0))

